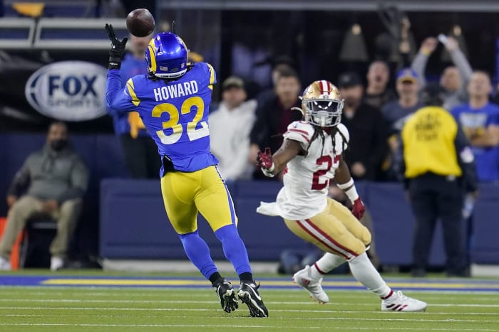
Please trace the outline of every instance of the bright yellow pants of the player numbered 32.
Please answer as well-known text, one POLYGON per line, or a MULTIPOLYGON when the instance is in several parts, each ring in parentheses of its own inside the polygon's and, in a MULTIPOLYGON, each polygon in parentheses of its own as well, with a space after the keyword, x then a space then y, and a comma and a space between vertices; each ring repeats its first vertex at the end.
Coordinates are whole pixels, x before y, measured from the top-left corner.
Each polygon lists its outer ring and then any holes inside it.
POLYGON ((197 230, 198 212, 213 232, 232 223, 237 225, 232 198, 215 166, 192 173, 166 173, 161 178, 161 192, 166 214, 178 234, 197 230))

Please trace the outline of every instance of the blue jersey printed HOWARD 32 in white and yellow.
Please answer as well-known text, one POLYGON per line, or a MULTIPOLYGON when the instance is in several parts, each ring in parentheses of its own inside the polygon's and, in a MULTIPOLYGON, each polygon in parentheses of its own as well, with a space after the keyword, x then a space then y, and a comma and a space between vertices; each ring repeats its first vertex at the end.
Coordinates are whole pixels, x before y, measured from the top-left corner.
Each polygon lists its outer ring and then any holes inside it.
POLYGON ((207 122, 215 82, 215 70, 207 63, 195 63, 170 82, 137 75, 124 89, 120 70, 108 70, 106 101, 120 112, 137 110, 159 154, 171 159, 175 171, 193 172, 218 163, 210 153, 207 122))

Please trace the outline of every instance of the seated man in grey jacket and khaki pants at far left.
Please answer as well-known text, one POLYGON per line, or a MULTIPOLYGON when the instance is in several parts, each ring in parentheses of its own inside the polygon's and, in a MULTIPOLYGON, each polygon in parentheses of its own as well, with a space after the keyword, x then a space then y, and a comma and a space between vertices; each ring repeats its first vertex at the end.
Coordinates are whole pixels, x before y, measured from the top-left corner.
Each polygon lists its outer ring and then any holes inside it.
POLYGON ((61 269, 87 183, 87 168, 69 143, 66 124, 53 122, 45 146, 26 159, 7 193, 9 215, 0 241, 0 269, 11 269, 9 258, 16 237, 35 215, 57 220, 57 235, 50 247, 51 270, 61 269))

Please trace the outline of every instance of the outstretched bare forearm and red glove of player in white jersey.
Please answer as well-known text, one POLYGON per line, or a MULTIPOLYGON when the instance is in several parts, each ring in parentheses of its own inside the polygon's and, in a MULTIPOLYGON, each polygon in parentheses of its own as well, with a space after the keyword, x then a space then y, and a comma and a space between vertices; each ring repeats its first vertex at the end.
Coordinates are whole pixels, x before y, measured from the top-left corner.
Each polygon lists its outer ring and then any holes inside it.
POLYGON ((265 148, 265 151, 258 151, 257 162, 262 168, 265 176, 272 177, 279 174, 287 162, 293 159, 298 154, 304 154, 302 145, 299 141, 293 139, 284 139, 282 146, 277 152, 272 155, 270 148, 265 148))

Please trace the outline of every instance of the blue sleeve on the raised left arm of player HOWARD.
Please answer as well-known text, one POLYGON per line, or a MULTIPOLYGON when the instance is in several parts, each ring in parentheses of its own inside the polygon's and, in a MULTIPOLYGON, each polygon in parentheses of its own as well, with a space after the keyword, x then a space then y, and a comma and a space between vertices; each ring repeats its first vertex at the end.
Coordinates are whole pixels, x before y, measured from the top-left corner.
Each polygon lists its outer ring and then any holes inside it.
POLYGON ((106 105, 108 108, 114 109, 115 112, 130 112, 137 109, 138 99, 135 95, 133 80, 128 80, 126 87, 121 87, 120 70, 108 70, 108 79, 106 81, 106 105), (131 82, 131 86, 130 86, 131 82), (130 88, 132 94, 130 95, 130 88))

